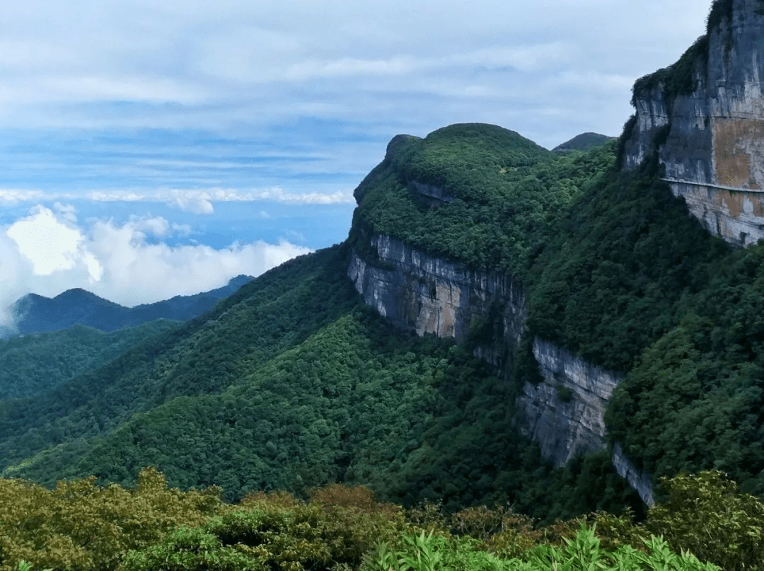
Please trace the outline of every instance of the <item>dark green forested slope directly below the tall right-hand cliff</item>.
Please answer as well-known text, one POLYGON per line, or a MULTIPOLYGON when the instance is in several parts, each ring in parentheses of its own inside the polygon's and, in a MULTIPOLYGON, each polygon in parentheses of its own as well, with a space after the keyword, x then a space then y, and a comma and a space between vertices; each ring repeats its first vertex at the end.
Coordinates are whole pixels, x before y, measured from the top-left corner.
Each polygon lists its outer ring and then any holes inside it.
POLYGON ((606 423, 656 478, 721 469, 764 495, 764 245, 708 235, 655 163, 571 209, 529 280, 529 329, 626 373, 606 423))

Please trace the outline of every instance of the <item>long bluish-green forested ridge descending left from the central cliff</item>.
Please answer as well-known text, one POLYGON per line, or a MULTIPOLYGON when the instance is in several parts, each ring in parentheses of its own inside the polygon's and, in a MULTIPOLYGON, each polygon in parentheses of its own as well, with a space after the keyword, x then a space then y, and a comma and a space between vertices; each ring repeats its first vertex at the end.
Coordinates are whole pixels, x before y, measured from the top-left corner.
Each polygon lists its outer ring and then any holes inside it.
MULTIPOLYGON (((335 248, 336 250, 336 248, 335 248)), ((0 403, 2 466, 95 436, 182 394, 228 387, 358 303, 335 250, 297 258, 247 284, 214 310, 112 362, 20 401, 0 403), (332 260, 334 263, 329 263, 332 260)))

